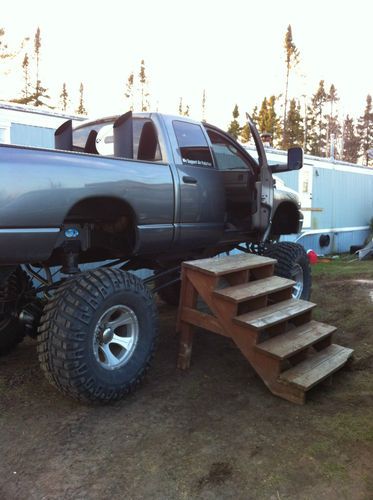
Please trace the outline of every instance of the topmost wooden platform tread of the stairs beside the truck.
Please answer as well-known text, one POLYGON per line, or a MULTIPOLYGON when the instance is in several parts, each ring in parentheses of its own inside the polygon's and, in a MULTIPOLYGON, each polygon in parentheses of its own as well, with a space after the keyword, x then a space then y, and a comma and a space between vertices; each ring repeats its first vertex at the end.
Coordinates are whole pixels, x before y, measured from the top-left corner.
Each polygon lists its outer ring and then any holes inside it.
POLYGON ((235 254, 226 257, 212 257, 183 262, 183 266, 196 269, 206 274, 223 276, 237 271, 255 269, 268 265, 274 265, 277 261, 269 257, 254 254, 235 254))

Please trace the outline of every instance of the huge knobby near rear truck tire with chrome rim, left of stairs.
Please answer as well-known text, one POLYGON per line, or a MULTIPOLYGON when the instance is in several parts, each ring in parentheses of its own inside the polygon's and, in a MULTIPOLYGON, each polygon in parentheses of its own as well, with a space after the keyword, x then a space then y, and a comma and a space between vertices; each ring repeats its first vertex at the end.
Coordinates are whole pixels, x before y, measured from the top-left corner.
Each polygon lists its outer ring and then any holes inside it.
POLYGON ((96 269, 62 284, 45 306, 39 361, 63 393, 115 401, 144 377, 157 336, 157 309, 143 282, 118 269, 96 269))

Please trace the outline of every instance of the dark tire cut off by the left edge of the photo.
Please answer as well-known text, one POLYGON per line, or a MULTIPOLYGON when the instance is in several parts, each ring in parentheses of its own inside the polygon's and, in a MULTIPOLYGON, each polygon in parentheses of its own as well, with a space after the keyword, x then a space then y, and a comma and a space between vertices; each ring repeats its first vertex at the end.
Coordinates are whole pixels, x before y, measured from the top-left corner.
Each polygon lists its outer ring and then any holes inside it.
POLYGON ((0 354, 6 354, 22 342, 25 336, 25 326, 18 319, 17 309, 21 295, 31 290, 32 285, 20 267, 7 272, 1 283, 0 354))

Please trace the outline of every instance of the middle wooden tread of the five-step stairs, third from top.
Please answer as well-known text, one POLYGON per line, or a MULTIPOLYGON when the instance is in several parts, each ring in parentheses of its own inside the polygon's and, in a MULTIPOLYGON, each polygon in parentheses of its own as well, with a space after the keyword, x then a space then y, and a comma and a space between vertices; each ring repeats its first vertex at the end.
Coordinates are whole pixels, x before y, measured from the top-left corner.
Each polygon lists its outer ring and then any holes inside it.
POLYGON ((255 330, 263 330, 311 311, 316 304, 305 300, 289 299, 263 307, 257 311, 236 316, 234 321, 248 325, 255 330))

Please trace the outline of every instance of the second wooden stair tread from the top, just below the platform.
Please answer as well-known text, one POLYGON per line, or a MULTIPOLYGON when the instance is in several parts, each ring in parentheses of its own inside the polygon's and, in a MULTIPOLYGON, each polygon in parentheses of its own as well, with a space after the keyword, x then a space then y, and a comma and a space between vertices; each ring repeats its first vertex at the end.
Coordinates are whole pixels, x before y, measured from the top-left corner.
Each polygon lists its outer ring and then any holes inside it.
POLYGON ((255 297, 267 295, 268 293, 279 292, 286 288, 291 288, 294 284, 295 281, 281 278, 280 276, 270 276, 269 278, 215 290, 214 295, 224 297, 232 302, 243 302, 255 297))

